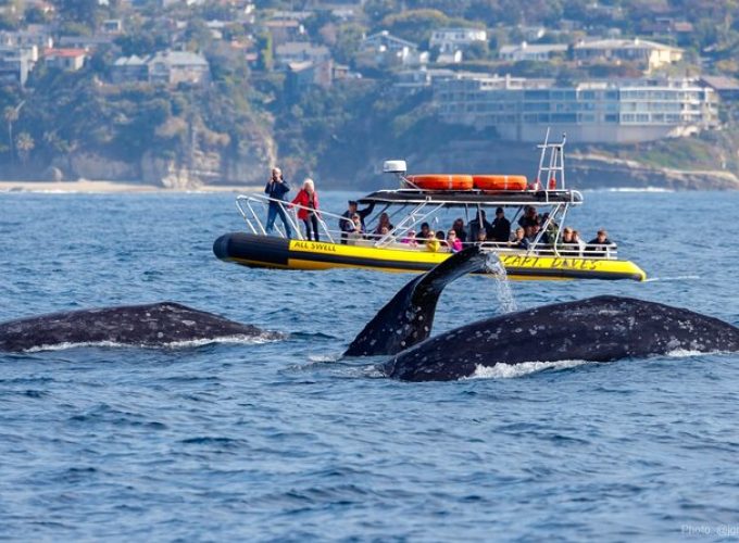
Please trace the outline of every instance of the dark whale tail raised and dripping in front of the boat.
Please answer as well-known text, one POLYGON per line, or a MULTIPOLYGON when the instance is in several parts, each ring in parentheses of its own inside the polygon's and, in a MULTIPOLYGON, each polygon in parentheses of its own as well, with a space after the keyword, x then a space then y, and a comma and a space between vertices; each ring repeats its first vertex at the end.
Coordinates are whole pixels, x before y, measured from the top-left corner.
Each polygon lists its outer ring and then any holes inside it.
POLYGON ((444 287, 460 277, 485 272, 492 253, 469 247, 403 287, 351 342, 345 356, 397 354, 428 338, 444 287))

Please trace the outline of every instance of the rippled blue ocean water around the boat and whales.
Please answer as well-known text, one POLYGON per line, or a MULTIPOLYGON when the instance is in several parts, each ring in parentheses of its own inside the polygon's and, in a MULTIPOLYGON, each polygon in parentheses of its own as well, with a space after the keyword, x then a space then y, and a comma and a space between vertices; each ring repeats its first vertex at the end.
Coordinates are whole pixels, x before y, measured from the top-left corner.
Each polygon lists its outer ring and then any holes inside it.
MULTIPOLYGON (((571 223, 606 226, 652 279, 516 282, 519 308, 610 293, 739 325, 738 193, 585 197, 571 223)), ((0 320, 172 300, 289 334, 0 354, 0 539, 739 538, 738 355, 385 379, 336 361, 411 276, 222 263, 233 200, 0 194, 0 320)), ((436 328, 500 310, 466 277, 436 328)))

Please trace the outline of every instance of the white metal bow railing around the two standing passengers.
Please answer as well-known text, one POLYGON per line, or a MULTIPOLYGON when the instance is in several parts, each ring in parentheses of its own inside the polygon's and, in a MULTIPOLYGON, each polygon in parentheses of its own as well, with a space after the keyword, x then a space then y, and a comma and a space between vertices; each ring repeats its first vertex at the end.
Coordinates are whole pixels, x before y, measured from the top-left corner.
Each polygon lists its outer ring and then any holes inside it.
MULTIPOLYGON (((262 223, 260 217, 266 217, 266 210, 272 203, 276 204, 278 209, 285 214, 285 217, 287 217, 290 229, 293 231, 293 238, 304 240, 305 238, 301 230, 301 220, 298 219, 297 210, 313 211, 312 209, 297 203, 291 204, 285 200, 277 200, 275 198, 270 198, 262 194, 242 194, 236 197, 236 207, 239 210, 243 222, 247 224, 247 227, 251 233, 261 236, 267 236, 267 231, 266 225, 262 223), (259 206, 259 209, 255 209, 256 206, 259 206)), ((318 222, 321 237, 327 241, 330 241, 331 243, 335 243, 335 237, 338 237, 339 239, 341 238, 341 230, 329 228, 324 217, 335 218, 337 219, 337 224, 341 224, 341 220, 349 219, 336 213, 318 210, 316 219, 318 222)), ((279 220, 275 222, 275 231, 277 232, 278 237, 287 238, 287 235, 279 220)))

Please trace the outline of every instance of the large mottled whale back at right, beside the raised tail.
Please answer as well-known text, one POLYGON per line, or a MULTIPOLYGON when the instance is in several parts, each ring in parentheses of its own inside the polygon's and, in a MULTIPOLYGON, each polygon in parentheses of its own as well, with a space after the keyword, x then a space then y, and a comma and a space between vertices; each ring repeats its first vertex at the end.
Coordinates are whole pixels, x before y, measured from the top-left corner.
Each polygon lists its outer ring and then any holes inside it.
POLYGON ((381 370, 404 381, 448 381, 469 377, 478 366, 609 362, 680 350, 737 352, 739 328, 660 303, 597 296, 455 328, 400 352, 381 370))

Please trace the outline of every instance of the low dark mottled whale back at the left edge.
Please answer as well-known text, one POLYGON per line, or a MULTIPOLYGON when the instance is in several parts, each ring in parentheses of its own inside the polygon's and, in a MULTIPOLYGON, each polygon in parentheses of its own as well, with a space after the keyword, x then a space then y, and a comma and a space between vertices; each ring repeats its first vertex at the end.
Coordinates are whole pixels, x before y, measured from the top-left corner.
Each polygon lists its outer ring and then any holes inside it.
POLYGON ((278 339, 212 313, 173 302, 52 313, 0 324, 0 351, 21 352, 65 343, 161 346, 230 337, 278 339))

